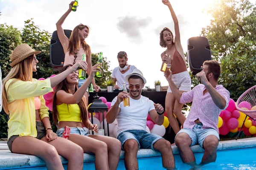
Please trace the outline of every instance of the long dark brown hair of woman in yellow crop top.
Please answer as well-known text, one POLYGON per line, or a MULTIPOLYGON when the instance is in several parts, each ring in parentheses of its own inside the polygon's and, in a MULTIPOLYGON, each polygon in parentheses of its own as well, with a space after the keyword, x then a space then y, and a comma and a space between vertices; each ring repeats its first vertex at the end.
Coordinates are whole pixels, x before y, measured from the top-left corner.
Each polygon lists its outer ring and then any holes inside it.
MULTIPOLYGON (((65 65, 61 69, 60 73, 62 73, 63 71, 67 70, 67 68, 71 67, 71 66, 72 65, 65 65)), ((56 101, 57 101, 56 94, 60 90, 63 90, 66 93, 71 94, 71 90, 70 90, 70 88, 68 86, 67 79, 64 79, 62 82, 60 82, 58 85, 56 85, 55 90, 54 90, 54 97, 53 97, 53 103, 52 103, 52 117, 53 117, 55 125, 58 125, 58 118, 59 118, 59 113, 58 113, 57 104, 56 104, 56 101)), ((78 86, 76 85, 75 92, 77 90, 78 90, 78 86)), ((81 118, 81 121, 85 125, 88 113, 87 113, 87 108, 85 106, 85 99, 84 99, 84 97, 77 104, 79 105, 79 108, 80 108, 80 113, 81 113, 80 114, 80 118, 81 118)), ((68 107, 68 105, 67 105, 67 107, 68 107)))

